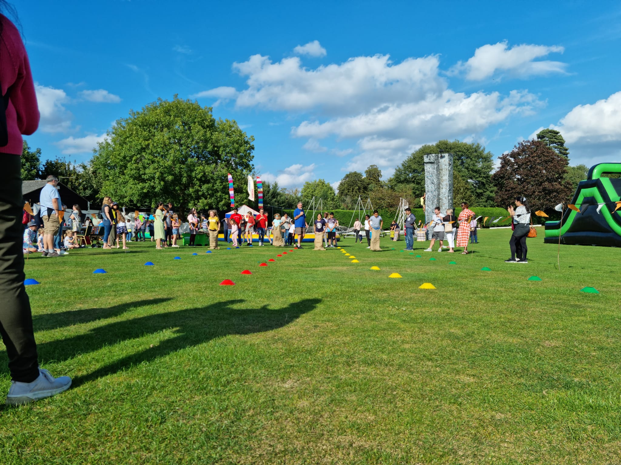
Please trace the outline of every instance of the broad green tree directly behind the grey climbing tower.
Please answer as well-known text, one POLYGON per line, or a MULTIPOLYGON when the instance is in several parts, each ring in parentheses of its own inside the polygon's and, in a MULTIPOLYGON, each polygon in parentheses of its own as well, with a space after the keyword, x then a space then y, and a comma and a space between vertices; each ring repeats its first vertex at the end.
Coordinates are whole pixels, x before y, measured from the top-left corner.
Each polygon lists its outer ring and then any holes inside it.
POLYGON ((407 184, 411 186, 414 196, 422 195, 425 192, 424 156, 433 153, 453 154, 453 171, 469 182, 473 206, 494 206, 494 185, 491 182, 493 154, 479 143, 442 140, 426 144, 397 167, 389 184, 407 184))

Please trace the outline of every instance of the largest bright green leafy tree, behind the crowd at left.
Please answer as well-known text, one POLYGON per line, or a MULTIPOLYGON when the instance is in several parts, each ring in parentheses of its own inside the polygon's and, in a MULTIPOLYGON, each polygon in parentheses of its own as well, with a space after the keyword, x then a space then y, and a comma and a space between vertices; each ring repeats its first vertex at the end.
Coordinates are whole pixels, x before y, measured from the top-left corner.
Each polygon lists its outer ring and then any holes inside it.
POLYGON ((171 201, 188 207, 229 208, 227 173, 235 202, 247 201, 253 136, 233 120, 215 120, 211 107, 158 99, 117 120, 98 144, 90 166, 101 175, 100 195, 130 206, 171 201))

